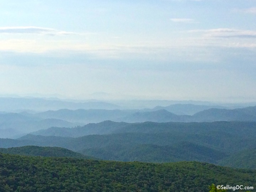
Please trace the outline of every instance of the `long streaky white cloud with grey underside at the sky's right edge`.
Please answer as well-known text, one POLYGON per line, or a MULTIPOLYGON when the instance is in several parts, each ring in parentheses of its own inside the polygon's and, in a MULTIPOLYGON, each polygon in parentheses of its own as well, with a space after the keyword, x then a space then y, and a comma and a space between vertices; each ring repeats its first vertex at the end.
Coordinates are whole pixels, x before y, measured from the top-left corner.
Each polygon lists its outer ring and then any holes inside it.
POLYGON ((219 38, 256 38, 256 31, 218 28, 210 30, 190 30, 189 32, 203 32, 206 37, 219 38))

